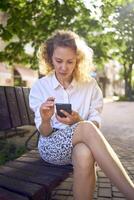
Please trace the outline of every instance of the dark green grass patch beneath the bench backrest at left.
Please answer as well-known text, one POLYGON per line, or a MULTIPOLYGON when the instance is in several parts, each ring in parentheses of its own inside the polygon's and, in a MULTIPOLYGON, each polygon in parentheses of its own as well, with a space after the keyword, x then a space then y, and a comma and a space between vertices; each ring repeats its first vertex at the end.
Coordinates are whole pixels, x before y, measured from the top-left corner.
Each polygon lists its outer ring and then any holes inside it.
POLYGON ((0 165, 7 161, 14 160, 26 152, 25 146, 17 146, 7 140, 0 141, 0 165))

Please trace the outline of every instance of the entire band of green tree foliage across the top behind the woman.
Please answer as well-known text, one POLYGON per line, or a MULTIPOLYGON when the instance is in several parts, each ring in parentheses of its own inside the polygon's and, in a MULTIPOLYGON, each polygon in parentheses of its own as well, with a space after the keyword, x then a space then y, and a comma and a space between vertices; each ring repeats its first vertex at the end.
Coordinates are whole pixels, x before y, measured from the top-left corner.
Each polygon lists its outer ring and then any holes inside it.
POLYGON ((0 25, 0 37, 7 44, 0 52, 0 60, 38 68, 36 53, 41 42, 56 29, 71 29, 93 48, 100 68, 108 59, 119 59, 130 90, 134 63, 133 1, 87 2, 85 5, 84 0, 1 0, 0 10, 7 13, 8 20, 6 26, 0 25), (33 47, 33 54, 26 52, 27 44, 33 47))

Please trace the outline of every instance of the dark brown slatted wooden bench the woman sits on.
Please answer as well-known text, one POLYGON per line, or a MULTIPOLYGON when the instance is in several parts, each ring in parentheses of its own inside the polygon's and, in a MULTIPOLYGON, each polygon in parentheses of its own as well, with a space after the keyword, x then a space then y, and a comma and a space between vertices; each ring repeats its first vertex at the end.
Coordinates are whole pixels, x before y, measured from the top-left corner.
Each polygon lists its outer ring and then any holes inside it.
MULTIPOLYGON (((0 131, 34 125, 29 108, 29 88, 0 86, 0 131)), ((43 161, 35 148, 0 166, 0 200, 48 200, 52 190, 65 180, 72 165, 43 161)))

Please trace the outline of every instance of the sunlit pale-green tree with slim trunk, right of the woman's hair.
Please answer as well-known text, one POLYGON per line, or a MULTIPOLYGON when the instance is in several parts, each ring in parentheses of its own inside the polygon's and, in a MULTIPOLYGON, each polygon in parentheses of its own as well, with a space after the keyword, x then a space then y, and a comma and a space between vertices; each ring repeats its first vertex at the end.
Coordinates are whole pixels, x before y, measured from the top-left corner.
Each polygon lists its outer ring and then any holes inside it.
POLYGON ((133 98, 134 1, 103 1, 101 30, 91 37, 96 61, 102 66, 108 59, 118 59, 123 66, 125 96, 133 98))

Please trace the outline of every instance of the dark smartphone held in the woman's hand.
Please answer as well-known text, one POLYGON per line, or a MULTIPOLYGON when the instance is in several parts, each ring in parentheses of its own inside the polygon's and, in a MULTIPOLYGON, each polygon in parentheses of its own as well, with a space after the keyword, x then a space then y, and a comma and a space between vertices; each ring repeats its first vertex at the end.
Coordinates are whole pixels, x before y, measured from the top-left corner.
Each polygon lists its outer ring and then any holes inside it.
POLYGON ((62 112, 60 112, 60 110, 65 110, 69 114, 72 113, 72 106, 70 103, 56 103, 55 105, 56 105, 57 115, 59 115, 60 117, 66 117, 62 112))

